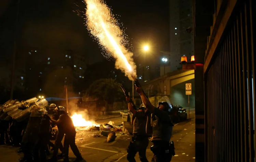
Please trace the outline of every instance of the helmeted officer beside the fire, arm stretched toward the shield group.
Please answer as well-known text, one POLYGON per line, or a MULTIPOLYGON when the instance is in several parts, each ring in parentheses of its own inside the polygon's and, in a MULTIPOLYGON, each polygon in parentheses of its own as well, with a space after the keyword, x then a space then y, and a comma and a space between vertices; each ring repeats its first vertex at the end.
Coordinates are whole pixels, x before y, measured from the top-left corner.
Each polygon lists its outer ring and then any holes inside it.
POLYGON ((57 107, 59 119, 54 120, 51 119, 51 121, 58 125, 58 129, 61 129, 65 133, 65 139, 64 139, 64 157, 63 162, 69 161, 69 146, 71 147, 74 155, 76 156, 75 162, 79 162, 84 160, 81 156, 81 153, 79 152, 76 144, 75 144, 75 127, 73 124, 72 119, 69 117, 69 115, 65 112, 65 108, 63 106, 57 107))

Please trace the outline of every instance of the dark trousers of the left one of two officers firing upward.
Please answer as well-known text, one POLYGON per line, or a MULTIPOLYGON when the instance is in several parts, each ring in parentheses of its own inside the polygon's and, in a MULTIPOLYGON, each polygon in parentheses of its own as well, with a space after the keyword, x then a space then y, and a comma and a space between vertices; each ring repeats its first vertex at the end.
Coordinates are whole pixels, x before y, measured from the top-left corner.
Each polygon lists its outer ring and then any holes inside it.
POLYGON ((139 152, 140 161, 148 162, 146 157, 146 149, 148 146, 148 137, 147 136, 136 136, 132 137, 132 142, 127 148, 127 160, 129 162, 136 162, 135 156, 139 152))

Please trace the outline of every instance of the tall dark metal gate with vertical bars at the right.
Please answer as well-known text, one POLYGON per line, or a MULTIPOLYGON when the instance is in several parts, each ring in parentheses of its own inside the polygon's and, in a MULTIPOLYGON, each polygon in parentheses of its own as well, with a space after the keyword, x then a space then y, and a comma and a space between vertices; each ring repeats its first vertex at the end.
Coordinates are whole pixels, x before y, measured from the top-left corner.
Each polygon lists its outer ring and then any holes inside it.
POLYGON ((204 74, 208 162, 255 161, 255 0, 239 1, 204 74))

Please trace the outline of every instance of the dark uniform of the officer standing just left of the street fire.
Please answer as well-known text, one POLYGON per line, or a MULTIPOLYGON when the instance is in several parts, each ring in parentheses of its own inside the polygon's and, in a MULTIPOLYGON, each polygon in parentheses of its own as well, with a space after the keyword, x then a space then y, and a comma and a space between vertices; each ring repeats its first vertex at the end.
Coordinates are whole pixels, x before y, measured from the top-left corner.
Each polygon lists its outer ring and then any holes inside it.
POLYGON ((77 158, 83 159, 81 156, 81 153, 79 152, 79 150, 75 144, 76 132, 75 132, 75 127, 74 127, 72 119, 69 117, 69 115, 67 113, 61 114, 59 119, 61 121, 61 123, 59 124, 59 128, 61 128, 63 130, 63 132, 65 133, 64 150, 63 150, 64 161, 68 161, 69 146, 71 147, 74 155, 77 158))

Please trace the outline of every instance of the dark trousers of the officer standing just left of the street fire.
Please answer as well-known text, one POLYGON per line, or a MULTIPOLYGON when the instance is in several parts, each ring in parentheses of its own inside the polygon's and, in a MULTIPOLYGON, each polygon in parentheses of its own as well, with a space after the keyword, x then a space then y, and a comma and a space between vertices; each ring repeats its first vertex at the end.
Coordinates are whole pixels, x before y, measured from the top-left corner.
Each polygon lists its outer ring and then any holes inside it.
POLYGON ((64 139, 64 156, 63 159, 67 160, 69 157, 69 146, 76 157, 81 157, 81 153, 75 144, 75 134, 66 134, 64 139))

